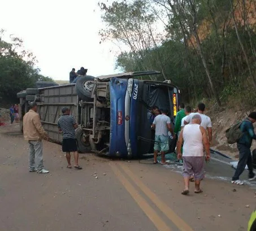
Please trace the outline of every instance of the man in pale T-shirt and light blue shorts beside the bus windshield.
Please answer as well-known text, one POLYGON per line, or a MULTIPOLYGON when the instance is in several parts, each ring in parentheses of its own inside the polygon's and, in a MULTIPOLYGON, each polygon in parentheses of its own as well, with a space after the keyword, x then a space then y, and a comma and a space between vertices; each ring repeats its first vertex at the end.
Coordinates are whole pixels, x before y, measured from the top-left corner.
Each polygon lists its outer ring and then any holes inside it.
POLYGON ((167 164, 164 156, 169 150, 168 131, 173 136, 171 127, 171 119, 167 116, 167 110, 162 110, 162 114, 155 117, 152 128, 155 129, 155 145, 154 145, 154 164, 157 163, 158 152, 161 152, 161 164, 167 164))

